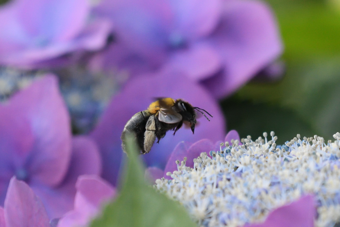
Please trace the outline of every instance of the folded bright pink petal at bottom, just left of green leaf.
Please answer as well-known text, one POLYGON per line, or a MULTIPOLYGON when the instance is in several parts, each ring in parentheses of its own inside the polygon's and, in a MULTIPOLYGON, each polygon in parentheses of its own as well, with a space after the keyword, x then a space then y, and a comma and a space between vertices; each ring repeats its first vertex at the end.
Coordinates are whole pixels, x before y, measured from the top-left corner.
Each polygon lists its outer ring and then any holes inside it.
POLYGON ((103 203, 115 197, 115 189, 96 175, 79 176, 74 210, 59 220, 58 227, 85 227, 98 215, 103 203))

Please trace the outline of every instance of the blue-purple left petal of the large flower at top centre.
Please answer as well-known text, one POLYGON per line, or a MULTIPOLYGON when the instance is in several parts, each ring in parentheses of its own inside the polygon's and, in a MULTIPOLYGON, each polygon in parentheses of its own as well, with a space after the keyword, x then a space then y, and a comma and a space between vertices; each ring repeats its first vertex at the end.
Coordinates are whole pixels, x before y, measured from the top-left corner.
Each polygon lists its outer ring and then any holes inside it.
POLYGON ((104 0, 97 8, 115 23, 118 42, 160 63, 164 59, 173 14, 167 1, 104 0))

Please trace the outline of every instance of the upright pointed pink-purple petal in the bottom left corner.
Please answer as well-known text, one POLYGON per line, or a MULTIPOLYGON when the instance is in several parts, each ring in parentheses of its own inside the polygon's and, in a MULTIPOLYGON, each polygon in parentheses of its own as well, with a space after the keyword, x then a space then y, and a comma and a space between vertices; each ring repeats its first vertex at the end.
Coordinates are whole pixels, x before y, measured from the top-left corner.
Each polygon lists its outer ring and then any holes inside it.
POLYGON ((13 177, 4 206, 8 227, 50 227, 49 217, 40 199, 23 181, 13 177))

